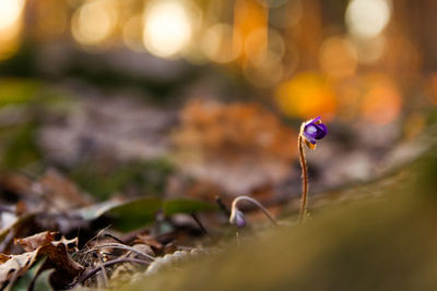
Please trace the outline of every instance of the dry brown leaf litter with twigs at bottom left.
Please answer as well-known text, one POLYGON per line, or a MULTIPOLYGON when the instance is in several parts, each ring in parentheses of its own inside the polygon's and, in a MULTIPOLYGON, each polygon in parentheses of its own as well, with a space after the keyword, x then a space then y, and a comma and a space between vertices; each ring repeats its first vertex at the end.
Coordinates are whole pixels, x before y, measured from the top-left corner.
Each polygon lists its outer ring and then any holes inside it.
POLYGON ((199 256, 211 244, 198 225, 198 214, 216 213, 205 202, 97 203, 54 169, 39 179, 4 175, 0 187, 9 194, 0 196, 0 286, 5 290, 119 286, 134 274, 151 275, 199 256))

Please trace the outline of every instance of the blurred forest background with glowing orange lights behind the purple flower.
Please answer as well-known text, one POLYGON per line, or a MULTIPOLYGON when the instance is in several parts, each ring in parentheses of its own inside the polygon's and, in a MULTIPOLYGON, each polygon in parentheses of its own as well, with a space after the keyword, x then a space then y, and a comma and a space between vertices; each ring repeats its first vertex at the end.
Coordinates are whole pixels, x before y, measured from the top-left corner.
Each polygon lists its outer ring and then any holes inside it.
POLYGON ((94 197, 298 197, 421 153, 436 120, 432 0, 0 0, 0 172, 94 197), (418 145, 417 145, 418 144, 418 145), (414 145, 414 146, 413 146, 414 145))

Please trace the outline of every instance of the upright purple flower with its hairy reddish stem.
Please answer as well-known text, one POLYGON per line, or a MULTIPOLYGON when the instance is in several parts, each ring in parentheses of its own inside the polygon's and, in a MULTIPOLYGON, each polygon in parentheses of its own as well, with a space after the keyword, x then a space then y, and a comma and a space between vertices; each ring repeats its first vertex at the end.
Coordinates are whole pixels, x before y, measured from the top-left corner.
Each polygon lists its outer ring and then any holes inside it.
POLYGON ((307 199, 308 199, 308 168, 305 160, 304 143, 310 149, 316 149, 316 141, 323 138, 328 134, 327 125, 321 123, 320 117, 308 120, 300 125, 299 137, 297 146, 299 148, 299 160, 302 167, 302 203, 299 210, 299 223, 307 215, 307 199))

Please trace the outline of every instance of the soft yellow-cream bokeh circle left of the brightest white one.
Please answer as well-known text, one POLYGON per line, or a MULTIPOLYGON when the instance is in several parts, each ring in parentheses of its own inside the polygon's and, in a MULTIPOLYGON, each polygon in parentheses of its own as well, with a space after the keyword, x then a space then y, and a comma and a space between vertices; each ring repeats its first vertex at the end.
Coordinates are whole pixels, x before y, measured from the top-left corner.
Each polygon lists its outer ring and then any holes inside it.
POLYGON ((72 17, 71 33, 83 46, 104 43, 117 25, 117 10, 111 0, 86 1, 72 17))

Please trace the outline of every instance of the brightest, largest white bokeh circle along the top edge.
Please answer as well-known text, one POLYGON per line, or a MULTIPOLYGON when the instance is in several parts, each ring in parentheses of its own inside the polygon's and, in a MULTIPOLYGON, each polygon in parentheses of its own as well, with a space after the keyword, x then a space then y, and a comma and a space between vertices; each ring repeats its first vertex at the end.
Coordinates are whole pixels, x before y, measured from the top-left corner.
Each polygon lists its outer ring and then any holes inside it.
POLYGON ((192 36, 191 13, 182 1, 149 3, 144 12, 143 41, 158 57, 168 58, 182 51, 192 36))

